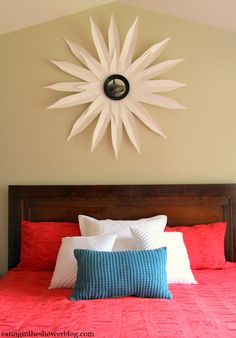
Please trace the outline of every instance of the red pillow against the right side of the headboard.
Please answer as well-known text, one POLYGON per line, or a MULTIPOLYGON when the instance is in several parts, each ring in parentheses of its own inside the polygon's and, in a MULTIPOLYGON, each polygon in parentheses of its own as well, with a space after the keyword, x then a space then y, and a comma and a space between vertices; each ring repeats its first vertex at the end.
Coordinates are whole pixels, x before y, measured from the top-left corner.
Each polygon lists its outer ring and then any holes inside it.
POLYGON ((183 233, 192 269, 221 269, 225 266, 225 230, 225 222, 166 227, 166 231, 183 233))

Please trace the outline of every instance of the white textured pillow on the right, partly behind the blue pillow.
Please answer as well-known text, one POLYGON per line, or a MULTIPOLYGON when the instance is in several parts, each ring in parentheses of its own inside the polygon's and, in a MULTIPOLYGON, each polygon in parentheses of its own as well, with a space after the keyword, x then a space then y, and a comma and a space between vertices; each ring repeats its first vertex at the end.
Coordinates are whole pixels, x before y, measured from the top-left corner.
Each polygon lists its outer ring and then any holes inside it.
POLYGON ((197 284, 190 268, 189 257, 181 232, 153 233, 145 229, 130 229, 137 248, 153 250, 167 247, 167 280, 169 284, 197 284))

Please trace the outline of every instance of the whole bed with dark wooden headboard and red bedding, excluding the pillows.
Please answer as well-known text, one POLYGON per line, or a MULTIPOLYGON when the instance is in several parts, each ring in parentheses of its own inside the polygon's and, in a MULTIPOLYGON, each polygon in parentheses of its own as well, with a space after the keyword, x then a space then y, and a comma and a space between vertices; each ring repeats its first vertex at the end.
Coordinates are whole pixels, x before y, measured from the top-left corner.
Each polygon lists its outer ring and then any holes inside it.
MULTIPOLYGON (((216 253, 217 254, 217 253, 216 253)), ((2 336, 236 337, 236 185, 10 186, 9 272, 0 280, 2 336), (168 226, 227 222, 229 263, 193 270, 197 285, 171 284, 173 299, 72 302, 48 289, 52 271, 21 271, 21 221, 77 222, 168 216, 168 226)))

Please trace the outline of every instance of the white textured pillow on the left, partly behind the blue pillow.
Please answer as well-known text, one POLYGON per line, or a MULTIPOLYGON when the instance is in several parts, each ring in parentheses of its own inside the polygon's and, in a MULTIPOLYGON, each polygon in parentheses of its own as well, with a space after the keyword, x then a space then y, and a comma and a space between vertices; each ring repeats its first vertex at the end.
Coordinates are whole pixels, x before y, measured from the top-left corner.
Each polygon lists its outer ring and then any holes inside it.
POLYGON ((73 288, 77 276, 74 249, 111 251, 116 235, 63 237, 49 289, 73 288))

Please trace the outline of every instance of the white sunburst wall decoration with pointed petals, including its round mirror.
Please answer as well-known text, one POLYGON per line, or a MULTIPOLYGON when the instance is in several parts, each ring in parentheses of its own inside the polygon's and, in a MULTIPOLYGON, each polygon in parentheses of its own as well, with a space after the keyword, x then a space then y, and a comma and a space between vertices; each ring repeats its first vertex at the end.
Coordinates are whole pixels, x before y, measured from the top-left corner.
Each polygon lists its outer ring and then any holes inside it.
POLYGON ((155 133, 166 137, 161 127, 142 103, 168 109, 184 109, 181 104, 159 93, 169 92, 185 84, 174 80, 156 79, 184 59, 167 60, 150 66, 161 54, 169 38, 156 43, 136 60, 133 60, 138 40, 138 17, 130 27, 123 47, 120 46, 118 29, 113 16, 108 30, 108 46, 99 28, 91 18, 91 32, 99 61, 80 45, 65 40, 74 56, 83 64, 51 61, 61 70, 79 79, 78 82, 60 82, 46 88, 63 92, 75 92, 48 107, 68 108, 90 103, 79 116, 67 138, 81 133, 98 118, 92 139, 92 149, 99 144, 111 123, 112 145, 119 155, 123 127, 140 153, 140 139, 135 117, 155 133))

